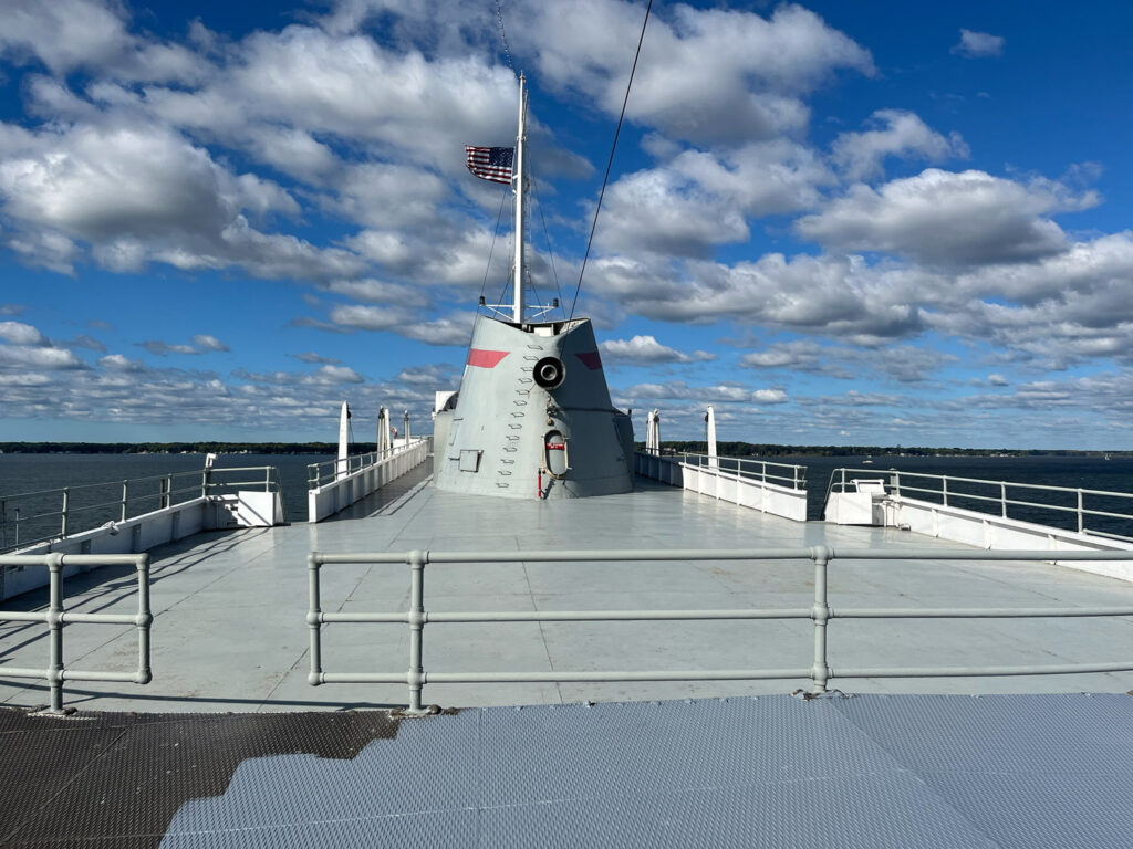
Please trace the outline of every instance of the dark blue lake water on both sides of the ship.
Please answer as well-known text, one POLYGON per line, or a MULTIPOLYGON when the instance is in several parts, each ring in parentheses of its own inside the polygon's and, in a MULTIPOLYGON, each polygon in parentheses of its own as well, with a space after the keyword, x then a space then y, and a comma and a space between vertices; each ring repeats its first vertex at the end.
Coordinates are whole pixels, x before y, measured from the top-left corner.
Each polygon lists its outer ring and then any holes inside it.
MULTIPOLYGON (((284 508, 291 522, 307 518, 307 464, 322 463, 332 460, 330 455, 298 454, 227 454, 218 457, 219 470, 245 466, 274 466, 279 470, 282 481, 284 508)), ((830 474, 838 468, 855 468, 868 470, 868 475, 887 477, 889 470, 898 472, 919 472, 923 474, 947 474, 960 478, 976 478, 990 481, 1008 481, 1017 483, 1036 483, 1045 486, 1067 487, 1071 489, 1094 489, 1116 492, 1133 492, 1133 457, 901 457, 875 456, 871 464, 863 464, 866 457, 770 457, 768 462, 794 463, 807 466, 808 480, 808 517, 820 518, 830 474)), ((11 499, 10 496, 23 492, 57 490, 61 487, 84 487, 85 484, 105 484, 73 489, 70 506, 75 522, 80 528, 92 528, 120 516, 121 481, 126 479, 151 479, 131 487, 129 515, 137 515, 157 506, 160 481, 155 478, 170 473, 199 472, 204 466, 201 454, 3 454, 0 455, 0 498, 7 499, 7 525, 10 529, 14 509, 22 509, 22 539, 27 541, 35 526, 46 529, 43 535, 58 532, 57 516, 34 521, 29 517, 37 513, 54 513, 60 508, 58 492, 34 499, 11 499), (93 506, 92 505, 102 505, 93 506), (90 509, 85 509, 90 507, 90 509)), ((218 479, 262 480, 262 472, 255 474, 222 473, 218 479)), ((855 474, 854 477, 864 477, 855 474)), ((173 500, 185 500, 199 494, 199 478, 188 475, 174 478, 173 500)), ((914 479, 902 479, 902 487, 930 486, 919 483, 914 479)), ((936 484, 931 484, 936 486, 936 484)), ((972 488, 970 491, 989 498, 999 497, 999 487, 972 488)), ((926 496, 928 497, 928 496, 926 496)), ((1046 492, 1029 492, 1013 490, 1008 495, 1016 500, 1030 500, 1036 504, 1064 504, 1073 506, 1074 494, 1056 496, 1046 492)), ((934 500, 939 500, 935 498, 934 500)), ((962 497, 949 495, 951 504, 978 507, 974 501, 964 503, 962 497)), ((1085 506, 1114 513, 1133 512, 1133 501, 1116 499, 1087 500, 1085 506)), ((989 509, 983 505, 983 509, 989 509)), ((994 505, 990 509, 997 509, 994 505)), ((1037 511, 1029 507, 1013 507, 1010 515, 1017 518, 1041 521, 1045 524, 1072 528, 1076 517, 1072 514, 1058 514, 1049 511, 1037 511)), ((1133 526, 1128 520, 1100 517, 1092 520, 1092 528, 1109 533, 1133 535, 1133 526)), ((74 525, 73 525, 74 529, 74 525)), ((8 544, 11 543, 9 532, 8 544)), ((3 540, 0 540, 2 543, 3 540)))

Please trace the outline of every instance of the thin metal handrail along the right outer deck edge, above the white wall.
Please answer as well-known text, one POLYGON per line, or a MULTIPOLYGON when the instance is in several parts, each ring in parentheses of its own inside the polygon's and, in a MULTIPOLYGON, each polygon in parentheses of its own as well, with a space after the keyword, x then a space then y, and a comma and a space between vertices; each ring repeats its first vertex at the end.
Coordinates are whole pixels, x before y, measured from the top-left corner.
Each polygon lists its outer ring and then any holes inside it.
MULTIPOLYGON (((846 474, 864 474, 864 475, 869 475, 870 479, 872 479, 872 480, 878 480, 879 479, 879 480, 883 481, 883 483, 885 483, 885 486, 887 488, 887 492, 889 495, 895 496, 895 497, 901 496, 902 492, 905 492, 905 494, 908 494, 908 492, 917 492, 917 494, 922 494, 922 495, 936 496, 936 497, 940 498, 942 506, 945 506, 945 507, 948 507, 948 506, 953 506, 954 507, 954 506, 956 506, 955 505, 955 499, 957 499, 957 498, 966 500, 966 501, 982 501, 982 503, 988 503, 988 504, 995 504, 995 505, 998 505, 998 507, 999 507, 998 514, 999 514, 999 516, 1002 518, 1007 518, 1008 517, 1007 516, 1007 508, 1008 507, 1029 507, 1029 508, 1032 508, 1032 509, 1040 509, 1040 511, 1054 511, 1056 513, 1070 513, 1070 514, 1074 514, 1076 516, 1076 518, 1077 518, 1077 532, 1079 533, 1089 533, 1089 534, 1093 534, 1093 535, 1097 535, 1097 537, 1106 537, 1108 539, 1114 539, 1114 540, 1125 540, 1125 541, 1133 540, 1133 534, 1113 533, 1113 532, 1109 532, 1109 531, 1099 531, 1099 530, 1093 530, 1093 529, 1089 529, 1089 528, 1085 526, 1085 518, 1087 518, 1087 516, 1093 516, 1093 517, 1099 517, 1100 516, 1100 517, 1106 517, 1106 518, 1122 518, 1122 520, 1126 520, 1126 521, 1133 522, 1133 494, 1130 494, 1130 492, 1111 492, 1111 491, 1104 490, 1104 489, 1085 489, 1085 488, 1081 488, 1081 487, 1077 487, 1077 488, 1075 488, 1075 487, 1057 487, 1057 486, 1045 484, 1045 483, 1014 483, 1012 481, 985 480, 985 479, 980 479, 980 478, 957 478, 957 477, 948 475, 948 474, 927 474, 925 472, 898 472, 895 469, 880 470, 880 469, 849 469, 849 468, 846 468, 846 469, 835 469, 830 473, 830 480, 829 480, 829 483, 826 487, 826 500, 824 501, 824 504, 829 501, 832 492, 845 492, 846 491, 846 487, 849 484, 853 483, 853 480, 849 480, 849 481, 846 480, 846 474), (901 480, 902 477, 904 477, 906 479, 909 479, 909 478, 915 478, 918 480, 938 481, 940 486, 938 488, 936 488, 936 489, 929 488, 929 487, 910 486, 908 482, 906 483, 902 483, 902 480, 901 480), (886 479, 888 479, 888 480, 886 480, 886 479), (949 483, 953 484, 952 488, 949 488, 949 483), (961 483, 961 484, 963 484, 963 483, 976 484, 976 486, 983 486, 983 487, 998 487, 999 488, 999 495, 998 495, 998 497, 996 497, 996 496, 980 495, 978 492, 971 492, 971 491, 957 491, 955 489, 955 484, 957 484, 957 483, 961 483), (1011 489, 1033 490, 1033 491, 1039 491, 1039 492, 1070 494, 1070 495, 1076 496, 1076 504, 1074 506, 1067 506, 1067 505, 1064 505, 1064 504, 1043 504, 1041 501, 1030 501, 1030 500, 1024 500, 1024 499, 1021 499, 1021 498, 1008 498, 1007 497, 1007 490, 1008 490, 1008 488, 1011 488, 1011 489), (1126 503, 1130 504, 1130 512, 1128 513, 1111 513, 1109 511, 1088 508, 1084 505, 1084 499, 1085 499, 1087 496, 1096 497, 1096 498, 1116 498, 1116 499, 1124 500, 1124 501, 1126 501, 1126 503), (948 499, 949 498, 953 499, 953 504, 952 505, 948 504, 948 499)), ((980 513, 990 513, 990 511, 978 511, 978 512, 980 512, 980 513)))

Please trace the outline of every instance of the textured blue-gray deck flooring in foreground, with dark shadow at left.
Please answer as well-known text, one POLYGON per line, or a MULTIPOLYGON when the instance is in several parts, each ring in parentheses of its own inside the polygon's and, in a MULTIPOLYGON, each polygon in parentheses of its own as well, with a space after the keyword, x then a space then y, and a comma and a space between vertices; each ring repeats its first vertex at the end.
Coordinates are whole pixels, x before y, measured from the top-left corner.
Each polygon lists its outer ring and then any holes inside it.
POLYGON ((3 711, 0 743, 6 847, 1033 849, 1133 833, 1133 698, 1111 694, 760 696, 400 722, 3 711))

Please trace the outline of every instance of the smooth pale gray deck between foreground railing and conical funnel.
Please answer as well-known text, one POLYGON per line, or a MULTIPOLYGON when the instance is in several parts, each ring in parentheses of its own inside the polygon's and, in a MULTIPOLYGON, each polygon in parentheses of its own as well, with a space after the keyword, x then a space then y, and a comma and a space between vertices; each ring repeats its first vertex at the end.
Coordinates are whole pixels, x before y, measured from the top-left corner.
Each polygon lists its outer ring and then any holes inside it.
MULTIPOLYGON (((947 546, 898 530, 796 523, 638 479, 638 491, 561 501, 442 492, 411 473, 335 521, 199 534, 153 552, 154 680, 146 687, 73 681, 82 710, 308 711, 401 706, 398 685, 307 684, 310 550, 783 548, 947 546), (416 480, 414 480, 416 479, 416 480), (400 490, 400 491, 399 491, 400 490), (401 495, 409 490, 406 495, 401 495), (401 497, 399 497, 401 496, 401 497)), ((809 607, 809 563, 429 565, 426 609, 554 610, 809 607)), ((131 611, 133 571, 68 582, 68 607, 131 611)), ((404 610, 406 566, 325 566, 323 609, 404 610)), ((33 609, 31 593, 5 603, 33 609)), ((1133 603, 1133 584, 1029 563, 845 563, 830 567, 832 606, 1101 606, 1133 603)), ((723 669, 810 666, 808 621, 433 624, 429 671, 723 669)), ((1116 661, 1133 654, 1130 619, 835 620, 838 666, 963 666, 1116 661)), ((2 664, 46 664, 42 625, 0 625, 0 702, 46 702, 40 683, 2 664), (31 686, 29 686, 31 684, 31 686)), ((66 662, 130 669, 131 628, 71 625, 66 662)), ((402 671, 404 625, 325 626, 325 671, 402 671)), ((808 681, 427 685, 443 706, 790 693, 808 681)), ((836 679, 849 693, 1049 693, 1133 689, 1133 674, 1017 678, 836 679)))

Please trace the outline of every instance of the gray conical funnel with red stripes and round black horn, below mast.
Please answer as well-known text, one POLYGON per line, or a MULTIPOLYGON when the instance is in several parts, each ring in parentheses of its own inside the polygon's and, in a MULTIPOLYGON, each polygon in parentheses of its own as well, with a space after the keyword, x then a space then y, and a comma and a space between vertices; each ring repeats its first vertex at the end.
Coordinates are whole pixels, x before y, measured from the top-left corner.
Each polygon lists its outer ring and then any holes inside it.
POLYGON ((615 410, 589 319, 485 316, 452 409, 436 414, 436 486, 509 498, 633 489, 633 426, 615 410))

